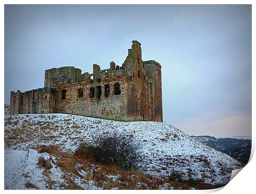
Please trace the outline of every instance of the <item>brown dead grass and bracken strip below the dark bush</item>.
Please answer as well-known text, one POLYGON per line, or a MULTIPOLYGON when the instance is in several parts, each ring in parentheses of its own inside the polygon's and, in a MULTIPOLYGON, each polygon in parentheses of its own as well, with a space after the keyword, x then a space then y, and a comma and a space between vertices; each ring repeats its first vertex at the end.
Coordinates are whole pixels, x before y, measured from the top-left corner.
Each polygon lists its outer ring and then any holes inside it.
POLYGON ((66 184, 62 183, 60 185, 64 189, 88 189, 77 185, 74 182, 74 176, 81 177, 81 181, 84 183, 93 181, 94 185, 103 189, 112 189, 114 187, 119 189, 159 189, 159 186, 165 183, 169 185, 169 189, 171 187, 174 189, 191 189, 191 187, 195 189, 214 189, 223 186, 206 184, 203 180, 170 180, 148 175, 138 170, 126 171, 115 165, 103 165, 95 162, 94 159, 84 157, 79 152, 71 154, 59 151, 58 147, 53 145, 43 145, 38 149, 40 153, 47 152, 57 157, 56 166, 66 172, 62 177, 66 180, 66 184), (93 164, 91 163, 92 161, 94 161, 93 164), (77 167, 76 164, 80 164, 80 167, 77 167), (85 175, 78 173, 81 170, 86 172, 85 175))

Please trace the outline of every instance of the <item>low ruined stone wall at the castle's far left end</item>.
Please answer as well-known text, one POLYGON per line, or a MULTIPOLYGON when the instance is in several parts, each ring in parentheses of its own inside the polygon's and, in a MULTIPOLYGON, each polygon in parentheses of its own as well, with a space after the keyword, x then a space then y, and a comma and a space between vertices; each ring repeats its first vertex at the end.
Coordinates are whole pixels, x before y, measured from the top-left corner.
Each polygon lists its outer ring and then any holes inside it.
POLYGON ((26 92, 11 92, 11 114, 54 113, 55 88, 38 88, 26 92))

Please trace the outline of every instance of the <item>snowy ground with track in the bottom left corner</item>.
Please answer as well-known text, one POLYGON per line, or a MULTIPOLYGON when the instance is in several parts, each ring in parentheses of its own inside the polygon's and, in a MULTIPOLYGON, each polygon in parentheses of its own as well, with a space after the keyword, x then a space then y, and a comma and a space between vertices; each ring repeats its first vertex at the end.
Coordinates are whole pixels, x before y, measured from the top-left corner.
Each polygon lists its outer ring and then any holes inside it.
MULTIPOLYGON (((60 185, 66 185, 63 178, 65 173, 54 164, 56 158, 47 153, 38 154, 34 149, 15 150, 5 148, 5 189, 28 189, 26 183, 32 183, 36 188, 31 189, 64 189, 60 185), (44 175, 44 168, 38 166, 38 158, 43 156, 45 159, 53 160, 52 168, 48 175, 44 175), (51 187, 49 187, 51 181, 51 187)), ((83 172, 80 172, 83 173, 83 172)), ((102 189, 89 182, 83 182, 81 177, 75 176, 74 180, 83 189, 102 189)))

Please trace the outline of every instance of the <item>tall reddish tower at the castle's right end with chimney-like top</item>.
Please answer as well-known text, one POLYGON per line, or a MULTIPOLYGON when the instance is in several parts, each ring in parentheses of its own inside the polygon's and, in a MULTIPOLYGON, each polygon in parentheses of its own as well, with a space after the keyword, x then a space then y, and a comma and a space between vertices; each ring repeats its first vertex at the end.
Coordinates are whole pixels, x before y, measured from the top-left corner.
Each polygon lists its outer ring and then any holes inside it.
POLYGON ((142 62, 140 43, 133 41, 133 76, 128 89, 128 115, 133 120, 163 121, 161 66, 142 62))

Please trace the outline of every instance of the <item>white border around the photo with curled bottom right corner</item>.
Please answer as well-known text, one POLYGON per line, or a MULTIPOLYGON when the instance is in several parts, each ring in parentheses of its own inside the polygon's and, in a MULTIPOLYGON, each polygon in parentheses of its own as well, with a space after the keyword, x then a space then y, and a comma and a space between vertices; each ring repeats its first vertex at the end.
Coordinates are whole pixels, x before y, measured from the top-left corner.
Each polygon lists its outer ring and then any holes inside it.
MULTIPOLYGON (((1 71, 1 83, 0 83, 0 91, 4 91, 4 4, 252 4, 252 53, 255 53, 255 7, 254 7, 254 1, 252 0, 208 0, 208 1, 203 1, 203 0, 180 0, 180 1, 166 1, 166 0, 158 0, 158 1, 153 1, 153 0, 126 0, 126 1, 118 1, 118 0, 94 0, 94 1, 82 1, 82 0, 3 0, 2 1, 2 6, 1 6, 1 15, 0 15, 0 25, 2 26, 1 29, 1 57, 2 63, 0 65, 1 71)), ((256 72, 255 72, 255 57, 252 55, 252 99, 255 99, 255 83, 256 83, 256 72)), ((0 96, 1 101, 2 101, 2 110, 4 109, 4 95, 2 94, 0 96)), ((255 101, 252 101, 252 128, 255 130, 255 110, 256 110, 256 105, 255 101)), ((4 117, 3 111, 1 112, 2 118, 4 117)), ((3 119, 1 120, 1 126, 3 128, 4 126, 4 121, 3 119)), ((252 154, 255 149, 255 132, 252 130, 252 154)), ((1 134, 1 139, 2 139, 2 149, 1 149, 1 183, 2 183, 2 190, 4 190, 4 137, 3 137, 3 130, 0 133, 1 134)), ((228 183, 223 189, 212 189, 212 190, 196 190, 196 191, 135 191, 135 192, 181 192, 181 193, 187 193, 187 192, 194 192, 194 193, 210 193, 210 192, 216 192, 217 190, 220 190, 219 193, 251 193, 251 191, 254 191, 254 173, 255 173, 255 167, 256 167, 256 159, 255 157, 251 159, 251 161, 245 166, 241 172, 239 173, 238 176, 236 176, 234 179, 228 183)), ((12 193, 12 192, 19 192, 19 193, 27 193, 27 192, 33 192, 33 191, 12 191, 12 190, 4 190, 4 193, 12 193)), ((43 192, 85 192, 85 191, 51 191, 51 190, 41 190, 41 191, 36 191, 39 193, 43 192)), ((86 191, 89 193, 94 193, 94 192, 104 192, 104 193, 109 193, 109 192, 122 192, 122 193, 128 193, 130 191, 125 190, 125 191, 86 191)), ((134 191, 133 191, 134 192, 134 191)))

